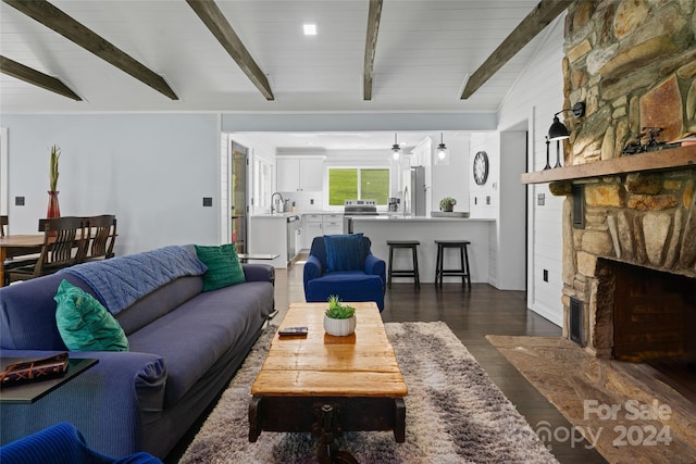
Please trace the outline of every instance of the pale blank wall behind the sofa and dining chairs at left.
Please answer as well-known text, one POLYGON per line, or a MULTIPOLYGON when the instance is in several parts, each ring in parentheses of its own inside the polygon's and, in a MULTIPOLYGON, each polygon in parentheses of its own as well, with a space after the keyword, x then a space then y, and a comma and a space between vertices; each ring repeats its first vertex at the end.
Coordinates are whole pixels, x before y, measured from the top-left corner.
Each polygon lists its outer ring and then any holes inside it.
POLYGON ((219 242, 217 115, 3 115, 2 126, 13 234, 37 234, 46 216, 55 143, 61 213, 115 214, 117 254, 219 242), (17 196, 24 206, 14 205, 17 196), (213 208, 202 206, 203 197, 213 198, 213 208))

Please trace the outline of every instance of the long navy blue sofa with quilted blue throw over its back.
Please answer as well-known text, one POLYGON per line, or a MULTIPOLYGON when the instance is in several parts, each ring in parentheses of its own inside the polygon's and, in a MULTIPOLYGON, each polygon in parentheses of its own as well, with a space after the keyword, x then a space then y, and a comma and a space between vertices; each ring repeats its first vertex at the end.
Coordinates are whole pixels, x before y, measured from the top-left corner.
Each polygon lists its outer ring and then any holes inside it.
MULTIPOLYGON (((117 313, 129 351, 70 352, 99 363, 33 404, 2 404, 0 444, 67 422, 100 453, 164 457, 226 387, 274 311, 273 267, 245 264, 244 273, 246 283, 208 292, 201 276, 179 277, 117 313)), ((0 288, 2 358, 67 351, 53 300, 62 279, 97 297, 63 273, 0 288)))

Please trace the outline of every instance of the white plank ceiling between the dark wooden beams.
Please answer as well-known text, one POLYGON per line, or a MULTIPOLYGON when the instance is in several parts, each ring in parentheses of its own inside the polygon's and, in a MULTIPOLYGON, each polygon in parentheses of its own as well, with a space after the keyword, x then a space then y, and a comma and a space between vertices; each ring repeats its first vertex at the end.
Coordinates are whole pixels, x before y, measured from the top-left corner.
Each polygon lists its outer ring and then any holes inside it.
MULTIPOLYGON (((368 0, 217 0, 268 75, 266 101, 185 1, 52 3, 164 77, 170 100, 14 8, 0 3, 0 54, 66 84, 84 101, 0 75, 0 111, 495 112, 544 33, 470 99, 473 73, 538 0, 384 0, 372 101, 363 101, 368 0), (303 23, 319 34, 306 37, 303 23)), ((560 72, 560 63, 559 63, 560 72)))

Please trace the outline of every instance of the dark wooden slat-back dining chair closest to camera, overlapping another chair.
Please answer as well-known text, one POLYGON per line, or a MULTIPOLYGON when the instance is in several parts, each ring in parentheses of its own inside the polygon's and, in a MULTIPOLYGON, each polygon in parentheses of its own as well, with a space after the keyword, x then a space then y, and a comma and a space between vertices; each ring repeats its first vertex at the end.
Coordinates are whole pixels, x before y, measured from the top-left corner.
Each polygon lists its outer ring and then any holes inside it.
POLYGON ((5 272, 5 285, 16 280, 28 280, 53 274, 77 264, 89 242, 89 228, 82 217, 64 216, 47 220, 44 243, 36 263, 5 272))

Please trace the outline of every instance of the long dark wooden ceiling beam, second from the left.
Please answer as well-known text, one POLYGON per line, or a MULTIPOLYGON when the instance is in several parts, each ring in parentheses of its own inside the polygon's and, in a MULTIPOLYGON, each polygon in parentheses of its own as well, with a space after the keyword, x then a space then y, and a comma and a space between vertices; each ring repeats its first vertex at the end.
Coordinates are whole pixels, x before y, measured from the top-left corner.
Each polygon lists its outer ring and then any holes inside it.
POLYGON ((73 20, 46 0, 2 0, 7 4, 14 7, 27 16, 38 21, 46 27, 57 32, 69 40, 80 46, 116 66, 121 71, 132 75, 136 79, 152 87, 160 93, 172 100, 178 100, 174 90, 170 88, 162 76, 150 71, 140 62, 115 47, 113 43, 102 38, 88 27, 73 20))

